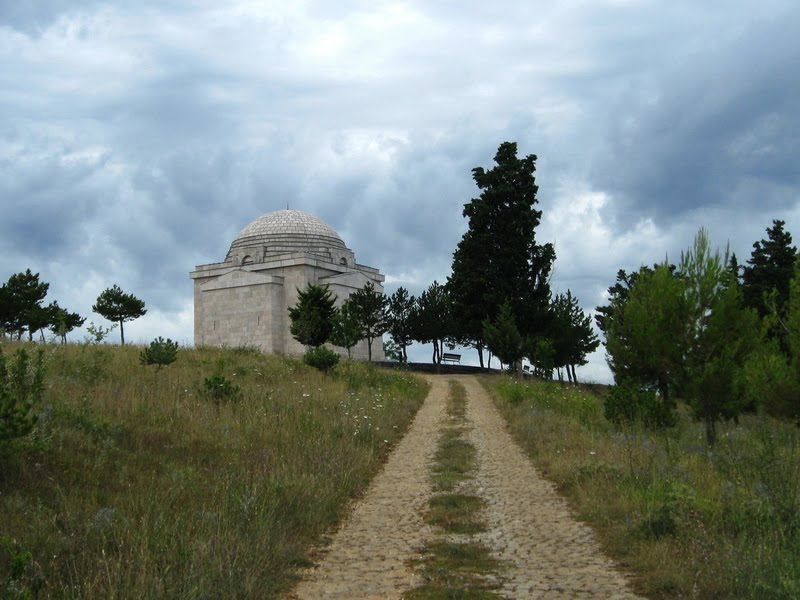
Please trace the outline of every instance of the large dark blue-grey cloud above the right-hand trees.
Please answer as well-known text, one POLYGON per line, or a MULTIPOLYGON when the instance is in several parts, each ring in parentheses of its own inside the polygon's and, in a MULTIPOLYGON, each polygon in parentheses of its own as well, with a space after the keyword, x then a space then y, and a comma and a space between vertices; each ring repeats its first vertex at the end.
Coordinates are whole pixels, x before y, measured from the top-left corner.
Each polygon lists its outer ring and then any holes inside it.
POLYGON ((673 66, 650 98, 620 99, 595 180, 620 200, 623 222, 733 203, 777 211, 797 201, 798 20, 795 10, 752 27, 673 66))

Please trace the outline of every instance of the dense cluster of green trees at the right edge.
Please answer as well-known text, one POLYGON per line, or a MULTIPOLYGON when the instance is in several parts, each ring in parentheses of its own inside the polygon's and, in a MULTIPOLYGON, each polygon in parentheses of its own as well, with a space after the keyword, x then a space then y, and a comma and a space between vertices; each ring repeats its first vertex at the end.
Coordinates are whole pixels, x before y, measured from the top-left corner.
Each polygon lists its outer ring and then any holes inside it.
POLYGON ((800 262, 784 221, 745 265, 701 228, 678 264, 620 270, 608 297, 595 319, 621 399, 612 417, 655 410, 668 425, 680 398, 709 445, 745 411, 800 417, 800 262))

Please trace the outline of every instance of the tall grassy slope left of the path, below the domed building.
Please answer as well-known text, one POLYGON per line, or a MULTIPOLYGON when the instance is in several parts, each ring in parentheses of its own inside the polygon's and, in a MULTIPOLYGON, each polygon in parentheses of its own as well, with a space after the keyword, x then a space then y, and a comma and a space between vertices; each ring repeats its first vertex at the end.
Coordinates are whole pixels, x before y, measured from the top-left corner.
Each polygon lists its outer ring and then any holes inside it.
POLYGON ((46 348, 36 429, 0 456, 0 596, 275 597, 426 392, 365 364, 203 348, 157 371, 139 351, 46 348), (209 399, 214 376, 239 399, 209 399))

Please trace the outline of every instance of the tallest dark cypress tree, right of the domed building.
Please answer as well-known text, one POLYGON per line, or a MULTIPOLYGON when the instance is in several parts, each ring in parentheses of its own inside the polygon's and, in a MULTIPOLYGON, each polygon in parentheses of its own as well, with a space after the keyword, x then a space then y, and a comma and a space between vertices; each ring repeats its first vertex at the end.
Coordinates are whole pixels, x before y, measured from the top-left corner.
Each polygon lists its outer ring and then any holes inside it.
POLYGON ((535 210, 536 156, 517 158, 517 145, 504 142, 496 166, 472 170, 481 191, 464 206, 467 232, 453 254, 448 289, 460 343, 478 351, 483 366, 483 323, 494 321, 508 301, 524 336, 547 326, 549 277, 555 260, 552 244, 536 242, 541 211, 535 210))

